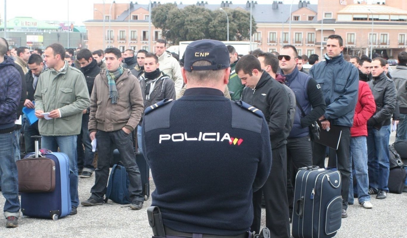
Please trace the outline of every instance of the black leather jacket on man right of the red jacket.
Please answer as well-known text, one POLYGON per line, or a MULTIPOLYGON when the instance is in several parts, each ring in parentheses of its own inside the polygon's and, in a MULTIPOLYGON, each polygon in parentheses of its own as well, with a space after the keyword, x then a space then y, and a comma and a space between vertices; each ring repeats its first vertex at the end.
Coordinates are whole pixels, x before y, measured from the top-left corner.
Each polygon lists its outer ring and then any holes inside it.
POLYGON ((384 71, 379 76, 373 77, 368 84, 376 103, 376 112, 368 120, 368 127, 379 130, 382 126, 391 123, 390 118, 396 108, 396 85, 393 80, 387 78, 384 71))

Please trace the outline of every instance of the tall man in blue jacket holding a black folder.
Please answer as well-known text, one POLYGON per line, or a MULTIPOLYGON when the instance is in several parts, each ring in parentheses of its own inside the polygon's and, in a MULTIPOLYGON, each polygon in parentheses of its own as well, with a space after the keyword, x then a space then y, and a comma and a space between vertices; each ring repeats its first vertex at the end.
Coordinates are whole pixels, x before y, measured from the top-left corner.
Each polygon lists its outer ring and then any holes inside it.
MULTIPOLYGON (((337 168, 342 179, 342 218, 348 216, 349 179, 351 164, 350 128, 353 125, 354 109, 358 98, 359 71, 352 63, 346 62, 341 53, 344 41, 339 35, 330 35, 326 41, 324 55, 326 61, 317 63, 310 69, 311 77, 317 80, 322 88, 326 110, 319 121, 322 129, 327 130, 330 125, 339 127, 342 131, 338 149, 336 150, 337 168)), ((313 164, 325 167, 326 146, 313 143, 313 164)))

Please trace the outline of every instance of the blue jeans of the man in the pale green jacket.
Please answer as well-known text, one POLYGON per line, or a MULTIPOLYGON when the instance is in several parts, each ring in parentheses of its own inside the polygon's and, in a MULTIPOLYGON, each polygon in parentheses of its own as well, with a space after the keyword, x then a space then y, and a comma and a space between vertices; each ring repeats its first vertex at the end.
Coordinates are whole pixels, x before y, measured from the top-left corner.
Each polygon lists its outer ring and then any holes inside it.
POLYGON ((77 167, 77 136, 42 136, 42 147, 51 151, 65 153, 69 158, 69 184, 72 206, 79 205, 78 196, 78 167, 77 167))

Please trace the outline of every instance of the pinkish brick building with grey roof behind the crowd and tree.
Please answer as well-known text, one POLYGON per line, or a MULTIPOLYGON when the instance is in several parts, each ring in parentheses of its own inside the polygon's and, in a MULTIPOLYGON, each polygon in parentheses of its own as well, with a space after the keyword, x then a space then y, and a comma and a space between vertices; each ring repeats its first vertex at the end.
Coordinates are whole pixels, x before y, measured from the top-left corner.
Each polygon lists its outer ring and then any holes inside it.
MULTIPOLYGON (((320 55, 322 51, 326 52, 324 45, 331 34, 342 36, 345 54, 370 55, 372 48, 373 53, 396 58, 398 52, 406 50, 407 1, 378 0, 376 4, 359 1, 354 4, 353 0, 318 0, 318 4, 309 4, 300 0, 292 6, 278 1, 252 4, 252 15, 257 23, 253 41, 263 51, 279 51, 282 45, 291 43, 299 54, 320 55)), ((154 2, 153 7, 156 5, 154 2)), ((197 2, 197 5, 211 10, 222 7, 250 11, 249 1, 246 4, 197 2)), ((179 8, 185 6, 177 4, 179 8)), ((155 40, 161 38, 161 30, 153 25, 149 35, 148 4, 94 4, 94 8, 94 18, 85 22, 88 31, 85 44, 90 50, 102 48, 103 38, 106 39, 105 47, 151 50, 148 49, 149 40, 154 45, 155 40)))

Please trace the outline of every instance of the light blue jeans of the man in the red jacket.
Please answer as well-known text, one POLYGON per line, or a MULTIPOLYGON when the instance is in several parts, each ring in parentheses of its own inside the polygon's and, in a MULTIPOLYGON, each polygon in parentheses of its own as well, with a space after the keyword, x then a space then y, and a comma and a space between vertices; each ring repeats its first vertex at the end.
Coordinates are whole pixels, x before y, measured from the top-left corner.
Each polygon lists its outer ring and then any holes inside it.
MULTIPOLYGON (((356 177, 357 195, 359 203, 370 201, 369 176, 368 176, 368 146, 366 136, 355 136, 350 138, 350 164, 354 164, 353 176, 356 177)), ((349 179, 348 202, 353 203, 353 176, 349 179)))

